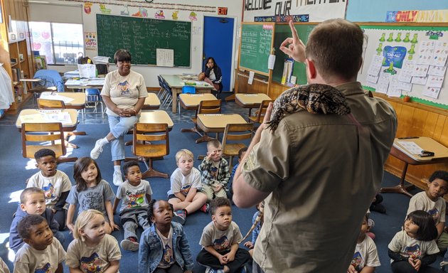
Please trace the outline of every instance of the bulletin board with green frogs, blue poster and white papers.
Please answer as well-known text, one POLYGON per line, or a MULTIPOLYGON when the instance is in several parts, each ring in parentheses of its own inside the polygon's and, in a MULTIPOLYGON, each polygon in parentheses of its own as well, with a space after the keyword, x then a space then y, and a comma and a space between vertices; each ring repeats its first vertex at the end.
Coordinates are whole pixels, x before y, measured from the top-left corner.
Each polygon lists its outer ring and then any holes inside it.
POLYGON ((360 23, 366 90, 448 109, 448 24, 360 23))

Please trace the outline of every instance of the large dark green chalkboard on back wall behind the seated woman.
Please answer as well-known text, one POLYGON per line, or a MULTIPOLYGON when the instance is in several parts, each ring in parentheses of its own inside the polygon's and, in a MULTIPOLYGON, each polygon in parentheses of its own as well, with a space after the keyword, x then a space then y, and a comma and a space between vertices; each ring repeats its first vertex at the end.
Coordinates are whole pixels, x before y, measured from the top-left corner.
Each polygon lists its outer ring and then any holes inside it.
POLYGON ((129 50, 132 63, 156 65, 156 48, 174 50, 174 65, 191 66, 191 22, 97 14, 98 55, 129 50))

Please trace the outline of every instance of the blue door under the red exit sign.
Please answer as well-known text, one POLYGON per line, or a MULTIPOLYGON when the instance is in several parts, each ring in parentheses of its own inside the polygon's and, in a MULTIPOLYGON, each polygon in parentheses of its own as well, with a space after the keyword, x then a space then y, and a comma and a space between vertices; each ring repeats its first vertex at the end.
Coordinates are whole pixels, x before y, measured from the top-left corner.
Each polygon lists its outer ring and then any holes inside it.
POLYGON ((215 59, 223 72, 223 91, 231 91, 233 23, 233 18, 204 16, 202 69, 206 58, 215 59))

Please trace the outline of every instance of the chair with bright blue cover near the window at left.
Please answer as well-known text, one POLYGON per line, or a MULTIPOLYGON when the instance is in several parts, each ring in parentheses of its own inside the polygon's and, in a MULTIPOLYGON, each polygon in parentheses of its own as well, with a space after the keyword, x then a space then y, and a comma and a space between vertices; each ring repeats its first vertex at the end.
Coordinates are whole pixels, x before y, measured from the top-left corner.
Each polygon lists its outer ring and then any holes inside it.
POLYGON ((34 102, 37 100, 38 97, 40 97, 42 92, 46 91, 53 92, 55 90, 58 90, 58 92, 64 91, 63 78, 59 75, 58 71, 56 70, 46 70, 46 69, 37 70, 33 78, 41 80, 39 82, 33 82, 32 88, 28 90, 29 92, 33 93, 33 108, 34 108, 34 102))

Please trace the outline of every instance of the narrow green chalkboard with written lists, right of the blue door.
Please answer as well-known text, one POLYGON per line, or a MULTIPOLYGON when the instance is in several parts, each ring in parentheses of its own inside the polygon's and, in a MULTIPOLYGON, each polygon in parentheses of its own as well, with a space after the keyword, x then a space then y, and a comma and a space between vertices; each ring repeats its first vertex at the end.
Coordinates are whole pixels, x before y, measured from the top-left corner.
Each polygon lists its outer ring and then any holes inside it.
POLYGON ((272 49, 274 23, 242 23, 240 68, 268 75, 267 60, 272 49))

